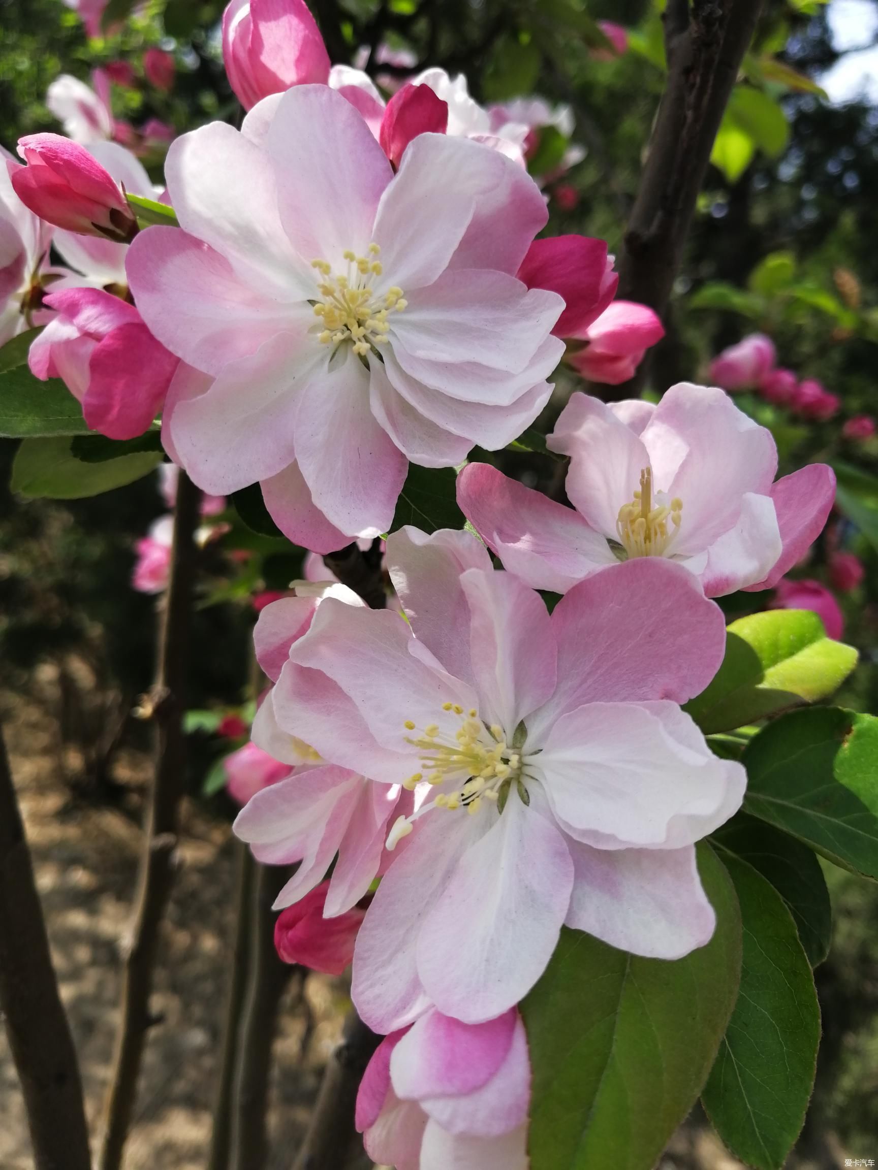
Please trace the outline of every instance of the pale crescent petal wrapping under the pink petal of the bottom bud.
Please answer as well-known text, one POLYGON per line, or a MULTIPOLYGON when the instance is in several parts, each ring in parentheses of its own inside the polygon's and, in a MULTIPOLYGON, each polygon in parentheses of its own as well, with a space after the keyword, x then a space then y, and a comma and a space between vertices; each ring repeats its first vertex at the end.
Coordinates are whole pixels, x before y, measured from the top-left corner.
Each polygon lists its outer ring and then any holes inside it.
MULTIPOLYGON (((480 1025, 468 1026, 472 1028, 480 1025)), ((519 1129, 527 1122, 529 1103, 528 1040, 517 1012, 514 1012, 512 1044, 506 1060, 486 1085, 458 1097, 421 1096, 420 1099, 424 1112, 443 1129, 471 1138, 498 1138, 519 1129)))

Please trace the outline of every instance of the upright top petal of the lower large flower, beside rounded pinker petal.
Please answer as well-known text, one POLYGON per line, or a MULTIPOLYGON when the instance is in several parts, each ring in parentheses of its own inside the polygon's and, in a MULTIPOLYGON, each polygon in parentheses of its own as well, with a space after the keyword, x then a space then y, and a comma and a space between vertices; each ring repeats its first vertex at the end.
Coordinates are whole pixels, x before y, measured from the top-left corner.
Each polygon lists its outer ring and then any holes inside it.
POLYGON ((519 723, 555 690, 557 647, 546 603, 512 573, 467 569, 469 651, 479 715, 509 742, 519 723))

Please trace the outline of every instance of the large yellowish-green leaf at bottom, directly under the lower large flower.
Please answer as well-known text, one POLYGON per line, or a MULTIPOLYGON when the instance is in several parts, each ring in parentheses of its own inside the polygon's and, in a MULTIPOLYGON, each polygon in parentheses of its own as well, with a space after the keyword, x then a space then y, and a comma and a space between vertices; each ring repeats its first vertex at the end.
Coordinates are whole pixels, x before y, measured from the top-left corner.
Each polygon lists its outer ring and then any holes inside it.
POLYGON ((564 929, 521 1005, 530 1047, 530 1170, 651 1170, 709 1072, 738 993, 732 883, 699 847, 711 942, 674 963, 564 929))

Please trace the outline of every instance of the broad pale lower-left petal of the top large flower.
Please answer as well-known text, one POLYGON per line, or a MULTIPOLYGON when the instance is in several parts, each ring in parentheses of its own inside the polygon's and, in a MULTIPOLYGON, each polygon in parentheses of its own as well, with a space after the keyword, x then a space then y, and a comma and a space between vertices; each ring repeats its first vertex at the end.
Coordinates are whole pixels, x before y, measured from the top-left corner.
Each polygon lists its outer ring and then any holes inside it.
POLYGON ((293 461, 302 391, 320 379, 325 355, 279 333, 252 356, 229 362, 199 398, 178 402, 171 435, 186 472, 205 491, 228 495, 268 480, 293 461))

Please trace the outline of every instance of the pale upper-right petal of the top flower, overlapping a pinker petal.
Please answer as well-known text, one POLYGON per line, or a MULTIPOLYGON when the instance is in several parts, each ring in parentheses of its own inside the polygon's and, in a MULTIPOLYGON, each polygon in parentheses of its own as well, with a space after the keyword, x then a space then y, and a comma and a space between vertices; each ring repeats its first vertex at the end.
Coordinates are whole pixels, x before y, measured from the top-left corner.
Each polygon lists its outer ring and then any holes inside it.
POLYGON ((384 283, 411 295, 448 267, 475 211, 466 187, 448 184, 441 135, 419 135, 378 205, 373 239, 380 247, 384 283))

